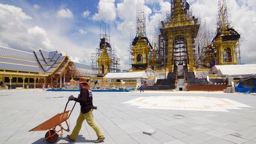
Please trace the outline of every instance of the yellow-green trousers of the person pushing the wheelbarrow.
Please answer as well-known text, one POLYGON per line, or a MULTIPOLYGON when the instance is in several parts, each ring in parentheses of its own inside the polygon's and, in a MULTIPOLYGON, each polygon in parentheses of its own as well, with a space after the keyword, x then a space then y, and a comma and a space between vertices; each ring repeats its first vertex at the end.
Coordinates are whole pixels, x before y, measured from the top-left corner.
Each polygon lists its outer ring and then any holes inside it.
POLYGON ((98 136, 98 138, 103 138, 104 135, 101 132, 100 128, 98 127, 98 124, 95 123, 94 118, 92 116, 92 111, 93 109, 91 109, 88 113, 82 114, 80 113, 78 116, 78 119, 76 120, 76 125, 75 128, 73 129, 73 132, 71 133, 71 139, 75 140, 76 137, 78 136, 81 127, 82 127, 82 123, 84 122, 84 120, 87 120, 87 123, 89 124, 89 126, 92 127, 92 129, 94 129, 96 135, 98 136))

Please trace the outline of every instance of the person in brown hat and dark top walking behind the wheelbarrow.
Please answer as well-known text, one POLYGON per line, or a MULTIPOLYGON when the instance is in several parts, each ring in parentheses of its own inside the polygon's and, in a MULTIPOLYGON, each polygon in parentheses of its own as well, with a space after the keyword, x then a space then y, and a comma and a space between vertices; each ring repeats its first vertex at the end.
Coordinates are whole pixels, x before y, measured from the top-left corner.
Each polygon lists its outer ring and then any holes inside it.
POLYGON ((100 128, 98 127, 98 124, 95 123, 94 117, 92 116, 92 111, 94 109, 97 109, 97 107, 94 107, 92 104, 92 91, 89 85, 87 84, 87 79, 80 78, 77 82, 79 84, 80 89, 80 95, 78 98, 73 97, 73 95, 69 96, 70 101, 76 101, 80 103, 81 105, 81 113, 78 116, 78 119, 76 120, 75 128, 73 129, 73 132, 71 135, 67 135, 66 137, 71 141, 74 142, 76 137, 79 134, 79 131, 81 130, 82 124, 84 120, 87 120, 87 123, 89 126, 94 129, 98 139, 94 141, 94 143, 100 143, 104 142, 104 135, 101 132, 100 128))

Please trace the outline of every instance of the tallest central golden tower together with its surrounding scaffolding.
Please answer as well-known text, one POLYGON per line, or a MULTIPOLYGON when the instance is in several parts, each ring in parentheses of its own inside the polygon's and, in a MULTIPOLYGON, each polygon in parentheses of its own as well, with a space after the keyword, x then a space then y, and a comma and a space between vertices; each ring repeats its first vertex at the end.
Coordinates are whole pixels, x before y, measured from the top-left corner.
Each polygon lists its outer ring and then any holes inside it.
POLYGON ((197 66, 199 53, 205 46, 205 42, 199 42, 204 38, 200 24, 187 1, 171 0, 171 11, 167 12, 167 18, 159 23, 156 30, 156 69, 170 70, 181 63, 189 65, 190 70, 197 66))

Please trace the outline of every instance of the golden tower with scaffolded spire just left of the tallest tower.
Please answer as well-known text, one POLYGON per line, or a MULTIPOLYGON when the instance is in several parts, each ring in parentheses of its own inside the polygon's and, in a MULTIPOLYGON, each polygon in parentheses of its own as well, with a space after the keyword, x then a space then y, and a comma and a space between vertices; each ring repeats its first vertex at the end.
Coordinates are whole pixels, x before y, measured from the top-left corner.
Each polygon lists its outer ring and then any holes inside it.
POLYGON ((152 46, 146 37, 145 11, 137 10, 137 36, 132 42, 132 70, 145 70, 151 63, 149 62, 149 53, 152 46))

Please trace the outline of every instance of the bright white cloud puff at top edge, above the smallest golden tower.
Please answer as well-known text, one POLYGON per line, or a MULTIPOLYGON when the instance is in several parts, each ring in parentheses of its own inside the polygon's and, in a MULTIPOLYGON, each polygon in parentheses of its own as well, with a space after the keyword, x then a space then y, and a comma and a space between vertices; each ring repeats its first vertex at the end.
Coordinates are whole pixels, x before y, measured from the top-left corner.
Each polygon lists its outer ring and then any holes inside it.
POLYGON ((116 7, 114 0, 100 0, 98 3, 98 13, 92 16, 93 20, 103 20, 105 22, 113 22, 116 20, 116 7))

